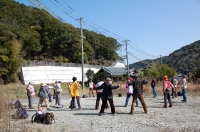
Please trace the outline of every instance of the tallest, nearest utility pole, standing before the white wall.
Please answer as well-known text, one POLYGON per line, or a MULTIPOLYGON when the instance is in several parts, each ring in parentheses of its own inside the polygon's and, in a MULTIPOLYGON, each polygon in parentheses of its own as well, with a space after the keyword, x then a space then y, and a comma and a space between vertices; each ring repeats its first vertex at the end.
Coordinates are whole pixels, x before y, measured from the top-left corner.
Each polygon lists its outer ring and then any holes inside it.
POLYGON ((82 19, 80 17, 80 30, 81 30, 81 62, 82 62, 82 90, 84 88, 84 56, 83 56, 83 29, 82 29, 82 19))

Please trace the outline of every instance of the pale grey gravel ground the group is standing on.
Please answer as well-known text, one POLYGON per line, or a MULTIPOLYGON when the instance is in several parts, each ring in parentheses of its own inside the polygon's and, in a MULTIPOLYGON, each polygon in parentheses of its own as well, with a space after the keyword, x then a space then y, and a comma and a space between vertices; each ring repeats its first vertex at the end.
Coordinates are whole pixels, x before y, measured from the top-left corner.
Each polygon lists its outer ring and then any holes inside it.
MULTIPOLYGON (((50 125, 56 132, 199 132, 200 131, 200 97, 188 97, 188 103, 182 103, 182 97, 173 101, 172 108, 162 108, 163 96, 157 98, 145 97, 148 107, 148 114, 143 112, 139 102, 139 107, 135 107, 133 115, 128 114, 132 98, 128 107, 123 107, 126 97, 114 97, 116 115, 111 114, 110 108, 107 114, 99 116, 99 110, 94 109, 96 98, 81 98, 83 110, 71 111, 69 109, 70 98, 62 97, 63 108, 55 108, 54 102, 50 103, 50 108, 54 112, 56 123, 50 125)), ((27 100, 20 100, 27 105, 27 100)), ((34 99, 36 107, 38 98, 34 99)), ((101 105, 101 104, 100 104, 101 105)), ((35 110, 27 108, 31 116, 35 110)), ((43 125, 43 124, 38 124, 43 125)))

